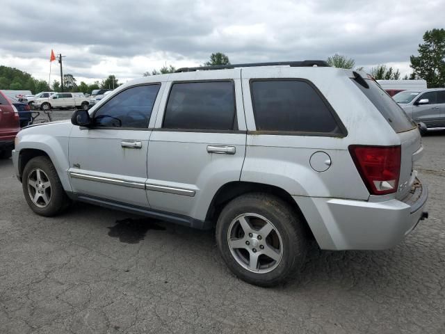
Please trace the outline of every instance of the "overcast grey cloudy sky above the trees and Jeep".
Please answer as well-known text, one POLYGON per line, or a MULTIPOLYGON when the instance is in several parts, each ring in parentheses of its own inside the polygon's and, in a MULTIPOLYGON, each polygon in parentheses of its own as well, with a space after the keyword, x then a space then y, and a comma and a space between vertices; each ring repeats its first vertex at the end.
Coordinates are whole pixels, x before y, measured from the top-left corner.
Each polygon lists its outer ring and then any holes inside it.
MULTIPOLYGON (((54 49, 78 84, 200 65, 214 51, 232 63, 337 52, 356 66, 385 63, 405 74, 423 33, 445 25, 445 0, 1 0, 0 8, 0 65, 48 80, 54 49)), ((58 70, 53 62, 51 81, 58 70)))

